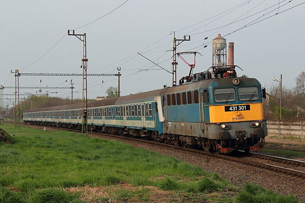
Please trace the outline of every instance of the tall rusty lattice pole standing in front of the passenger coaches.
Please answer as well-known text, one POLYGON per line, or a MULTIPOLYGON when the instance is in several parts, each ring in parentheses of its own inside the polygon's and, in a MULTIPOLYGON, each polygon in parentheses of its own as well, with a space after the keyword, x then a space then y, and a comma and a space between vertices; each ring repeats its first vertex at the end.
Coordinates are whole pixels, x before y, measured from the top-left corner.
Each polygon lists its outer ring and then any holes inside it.
POLYGON ((70 30, 68 30, 68 36, 72 35, 77 37, 83 42, 83 58, 81 61, 83 62, 83 65, 81 66, 83 68, 83 107, 82 107, 82 127, 81 127, 81 133, 86 134, 88 136, 88 124, 87 124, 87 112, 88 112, 88 100, 87 100, 87 47, 86 47, 86 33, 83 34, 75 34, 74 30, 73 33, 70 34, 70 30))

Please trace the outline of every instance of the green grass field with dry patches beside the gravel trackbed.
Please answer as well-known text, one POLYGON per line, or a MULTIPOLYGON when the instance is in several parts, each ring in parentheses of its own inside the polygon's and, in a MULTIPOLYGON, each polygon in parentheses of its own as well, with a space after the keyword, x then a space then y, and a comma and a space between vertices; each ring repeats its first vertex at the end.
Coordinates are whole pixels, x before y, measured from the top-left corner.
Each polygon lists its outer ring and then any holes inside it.
POLYGON ((253 184, 239 191, 199 166, 113 140, 0 128, 16 135, 0 142, 1 202, 261 202, 265 193, 298 202, 253 184))

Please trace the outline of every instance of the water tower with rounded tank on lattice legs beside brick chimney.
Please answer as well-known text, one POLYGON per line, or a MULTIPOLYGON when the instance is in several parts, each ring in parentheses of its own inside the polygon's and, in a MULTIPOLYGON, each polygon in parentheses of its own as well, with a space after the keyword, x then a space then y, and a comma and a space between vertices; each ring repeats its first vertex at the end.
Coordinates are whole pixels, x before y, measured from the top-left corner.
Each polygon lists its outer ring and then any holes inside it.
POLYGON ((212 66, 227 65, 227 40, 218 34, 213 39, 212 66))

